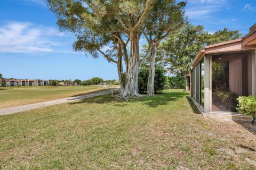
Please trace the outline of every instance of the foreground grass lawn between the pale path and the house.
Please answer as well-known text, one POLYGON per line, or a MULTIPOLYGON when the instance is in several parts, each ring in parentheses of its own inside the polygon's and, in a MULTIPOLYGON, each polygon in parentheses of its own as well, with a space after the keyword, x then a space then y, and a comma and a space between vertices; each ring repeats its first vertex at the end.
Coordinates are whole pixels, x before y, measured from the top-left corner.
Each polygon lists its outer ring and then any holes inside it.
POLYGON ((0 116, 0 169, 255 169, 252 132, 190 105, 165 90, 0 116))

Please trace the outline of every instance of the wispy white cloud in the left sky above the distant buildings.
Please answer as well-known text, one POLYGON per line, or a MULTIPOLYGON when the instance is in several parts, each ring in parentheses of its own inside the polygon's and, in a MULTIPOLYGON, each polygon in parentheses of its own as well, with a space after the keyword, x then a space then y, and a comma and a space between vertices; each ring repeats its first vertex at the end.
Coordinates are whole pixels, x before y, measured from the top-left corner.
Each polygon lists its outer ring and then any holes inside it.
POLYGON ((0 53, 54 52, 53 47, 60 45, 54 39, 63 36, 58 30, 28 22, 8 23, 0 27, 0 53))

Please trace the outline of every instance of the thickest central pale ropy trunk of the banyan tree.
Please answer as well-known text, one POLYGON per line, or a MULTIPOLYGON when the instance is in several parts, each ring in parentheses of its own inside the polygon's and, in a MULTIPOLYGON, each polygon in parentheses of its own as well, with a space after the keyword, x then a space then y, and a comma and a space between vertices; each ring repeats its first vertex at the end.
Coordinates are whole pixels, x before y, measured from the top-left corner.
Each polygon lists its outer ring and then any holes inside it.
POLYGON ((126 70, 126 84, 123 97, 140 96, 138 88, 138 73, 139 73, 139 37, 133 34, 131 37, 130 57, 126 70))

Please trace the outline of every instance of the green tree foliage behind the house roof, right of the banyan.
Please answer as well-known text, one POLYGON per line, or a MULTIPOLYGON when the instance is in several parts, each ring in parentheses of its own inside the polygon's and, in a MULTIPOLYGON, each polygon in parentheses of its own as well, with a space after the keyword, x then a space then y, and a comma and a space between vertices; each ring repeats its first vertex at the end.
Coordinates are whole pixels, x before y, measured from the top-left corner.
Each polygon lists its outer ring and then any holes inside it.
POLYGON ((190 64, 199 49, 207 45, 234 40, 240 36, 238 30, 230 31, 225 28, 211 34, 201 25, 194 26, 186 23, 160 44, 158 57, 164 58, 161 64, 167 67, 168 71, 183 77, 189 73, 190 64))

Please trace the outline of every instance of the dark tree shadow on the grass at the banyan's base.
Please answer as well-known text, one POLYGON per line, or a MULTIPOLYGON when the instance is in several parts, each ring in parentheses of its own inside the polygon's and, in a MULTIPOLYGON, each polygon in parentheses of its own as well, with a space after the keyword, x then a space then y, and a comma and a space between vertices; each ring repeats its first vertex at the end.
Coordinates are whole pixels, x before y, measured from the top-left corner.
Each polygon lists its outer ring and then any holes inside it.
POLYGON ((79 100, 74 103, 70 103, 70 105, 74 104, 110 104, 113 106, 125 106, 129 103, 141 103, 143 105, 147 105, 149 107, 157 107, 161 105, 167 105, 171 101, 177 101, 179 98, 187 96, 187 92, 164 92, 163 94, 157 94, 156 96, 142 96, 138 98, 121 98, 118 95, 103 95, 92 98, 86 98, 79 100))

